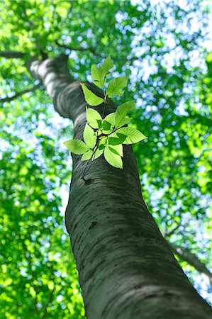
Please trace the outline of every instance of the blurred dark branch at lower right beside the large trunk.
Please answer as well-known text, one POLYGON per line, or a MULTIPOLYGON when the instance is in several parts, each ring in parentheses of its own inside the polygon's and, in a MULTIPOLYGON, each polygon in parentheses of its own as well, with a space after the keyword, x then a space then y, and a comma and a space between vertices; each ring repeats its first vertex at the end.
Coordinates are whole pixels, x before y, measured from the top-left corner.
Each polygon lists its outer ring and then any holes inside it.
POLYGON ((198 272, 201 272, 202 274, 206 274, 209 277, 212 284, 211 272, 206 268, 206 265, 199 260, 196 254, 193 254, 187 248, 179 247, 178 245, 175 245, 173 242, 169 242, 169 245, 172 248, 172 251, 174 252, 174 254, 177 254, 177 256, 180 259, 183 259, 184 261, 191 264, 191 266, 193 266, 196 270, 198 270, 198 272))

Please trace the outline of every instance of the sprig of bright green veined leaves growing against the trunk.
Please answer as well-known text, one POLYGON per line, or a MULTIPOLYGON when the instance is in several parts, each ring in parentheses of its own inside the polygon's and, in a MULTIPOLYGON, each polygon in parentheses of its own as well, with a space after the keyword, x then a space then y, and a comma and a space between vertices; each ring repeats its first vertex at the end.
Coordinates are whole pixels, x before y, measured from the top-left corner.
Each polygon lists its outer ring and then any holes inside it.
MULTIPOLYGON (((94 80, 94 84, 103 88, 107 72, 112 67, 113 62, 110 57, 104 60, 102 66, 96 67, 96 65, 92 65, 91 78, 94 80)), ((108 84, 106 92, 104 92, 105 101, 87 89, 85 84, 81 84, 84 99, 90 106, 98 106, 103 101, 106 103, 107 96, 111 97, 113 94, 123 94, 121 90, 126 86, 127 82, 128 79, 126 77, 112 79, 108 84)), ((128 128, 126 126, 130 121, 127 114, 133 108, 135 108, 134 101, 125 102, 117 108, 116 112, 108 114, 106 118, 101 118, 98 111, 87 108, 87 124, 83 133, 84 142, 81 140, 69 140, 64 143, 65 146, 74 154, 83 154, 83 161, 96 159, 104 152, 104 158, 111 166, 122 169, 122 144, 133 144, 147 138, 143 133, 135 130, 135 128, 128 128)))

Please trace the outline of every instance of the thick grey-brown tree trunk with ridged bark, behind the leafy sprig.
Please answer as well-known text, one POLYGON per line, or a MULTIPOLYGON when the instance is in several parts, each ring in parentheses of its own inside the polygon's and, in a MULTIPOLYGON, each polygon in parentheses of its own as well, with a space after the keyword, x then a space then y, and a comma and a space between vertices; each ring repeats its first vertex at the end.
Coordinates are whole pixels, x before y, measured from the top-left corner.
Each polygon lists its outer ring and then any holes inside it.
MULTIPOLYGON (((75 138, 82 138, 86 102, 67 58, 35 61, 30 72, 43 81, 55 110, 74 121, 75 138)), ((107 108, 110 113, 116 106, 107 108)), ((122 170, 100 157, 84 181, 86 164, 73 155, 65 220, 87 318, 211 318, 145 206, 132 148, 124 148, 122 170)))

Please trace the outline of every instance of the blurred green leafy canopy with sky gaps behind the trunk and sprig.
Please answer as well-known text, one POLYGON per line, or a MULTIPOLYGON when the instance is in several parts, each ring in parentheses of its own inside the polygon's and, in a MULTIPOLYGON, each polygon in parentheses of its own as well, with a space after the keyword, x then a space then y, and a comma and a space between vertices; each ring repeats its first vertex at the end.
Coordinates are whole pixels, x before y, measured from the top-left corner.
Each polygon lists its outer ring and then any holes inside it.
MULTIPOLYGON (((36 6, 4 1, 1 15, 2 99, 37 89, 1 108, 2 315, 83 317, 60 213, 60 186, 69 179, 69 167, 57 140, 61 135, 69 139, 71 132, 67 122, 54 119, 50 99, 26 72, 30 55, 69 53, 72 74, 83 80, 92 64, 110 54, 117 74, 131 74, 128 98, 138 101, 133 123, 149 136, 147 144, 134 148, 145 200, 170 242, 184 252, 189 248, 209 267, 211 55, 206 74, 206 6, 201 1, 185 7, 148 1, 38 1, 36 6)), ((185 262, 184 267, 196 278, 194 268, 185 262)))

